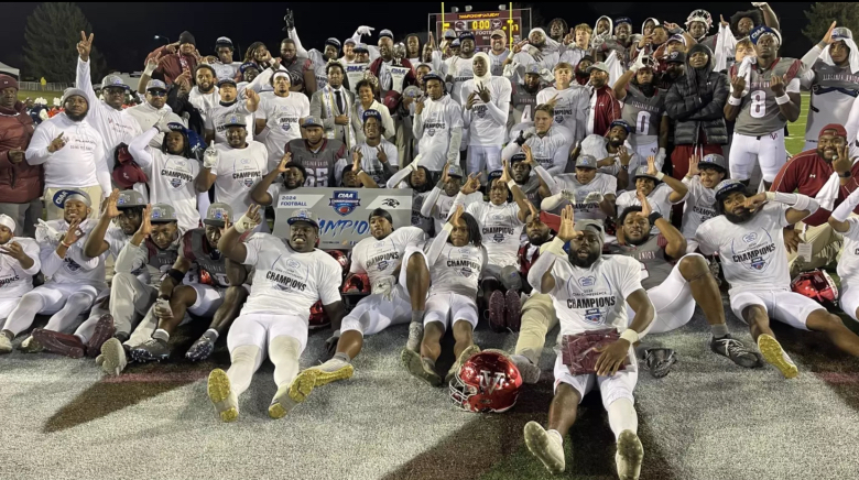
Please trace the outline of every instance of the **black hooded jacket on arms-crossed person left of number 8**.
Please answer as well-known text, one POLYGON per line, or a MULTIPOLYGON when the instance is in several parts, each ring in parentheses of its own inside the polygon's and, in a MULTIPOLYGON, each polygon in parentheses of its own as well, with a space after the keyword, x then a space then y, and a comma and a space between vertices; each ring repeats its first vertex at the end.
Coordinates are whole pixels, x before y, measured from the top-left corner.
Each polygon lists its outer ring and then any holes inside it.
POLYGON ((674 144, 728 143, 724 109, 729 92, 728 77, 713 70, 713 52, 700 44, 689 48, 686 54, 686 74, 677 78, 665 97, 665 110, 676 122, 674 144), (709 62, 696 72, 689 66, 689 58, 699 51, 707 52, 709 62), (700 138, 702 129, 706 139, 700 138))

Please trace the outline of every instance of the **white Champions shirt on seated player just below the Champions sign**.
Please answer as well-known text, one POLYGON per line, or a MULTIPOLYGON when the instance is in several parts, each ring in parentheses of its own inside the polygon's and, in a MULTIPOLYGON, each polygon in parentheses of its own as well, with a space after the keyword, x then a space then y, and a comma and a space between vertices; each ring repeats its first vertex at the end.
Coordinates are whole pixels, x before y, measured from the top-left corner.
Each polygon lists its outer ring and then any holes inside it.
MULTIPOLYGON (((377 285, 384 279, 392 280, 405 253, 405 248, 424 240, 426 233, 415 227, 398 228, 382 240, 366 238, 352 249, 349 273, 367 273, 370 285, 377 285)), ((393 284, 396 284, 395 280, 393 284)))

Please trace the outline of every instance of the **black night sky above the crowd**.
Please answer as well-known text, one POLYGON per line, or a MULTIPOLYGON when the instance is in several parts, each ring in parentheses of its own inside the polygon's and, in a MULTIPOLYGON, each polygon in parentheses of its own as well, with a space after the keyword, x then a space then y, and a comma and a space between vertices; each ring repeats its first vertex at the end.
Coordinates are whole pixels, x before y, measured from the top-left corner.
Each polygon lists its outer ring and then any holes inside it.
MULTIPOLYGON (((469 3, 446 3, 465 11, 469 3)), ((470 3, 474 11, 497 10, 499 3, 470 3)), ((23 67, 24 25, 28 15, 37 3, 0 3, 0 62, 14 67, 23 67)), ((427 15, 438 13, 438 2, 402 3, 340 3, 340 2, 296 2, 296 3, 91 3, 78 6, 89 20, 96 33, 95 44, 105 55, 108 67, 120 72, 134 72, 143 68, 146 54, 159 46, 154 35, 166 35, 171 42, 178 40, 183 30, 189 30, 197 41, 202 54, 214 54, 215 40, 226 35, 233 44, 244 50, 254 41, 264 42, 273 54, 279 51, 284 37, 283 15, 287 8, 295 12, 295 21, 301 40, 306 47, 320 48, 325 39, 336 36, 344 40, 359 25, 394 32, 398 41, 406 33, 425 32, 427 15), (320 9, 324 14, 318 13, 320 9), (405 13, 407 11, 407 13, 405 13), (335 13, 338 12, 338 13, 335 13), (120 20, 118 20, 120 19, 120 20), (237 20, 238 19, 238 20, 237 20)), ((628 15, 633 20, 633 33, 640 31, 641 22, 648 17, 656 17, 683 24, 686 17, 696 8, 707 9, 718 22, 719 13, 728 20, 739 10, 750 10, 749 2, 716 3, 651 3, 651 2, 588 2, 588 3, 531 3, 547 23, 561 17, 573 26, 587 22, 594 24, 601 14, 612 18, 628 15)), ((771 3, 782 24, 785 45, 784 56, 802 57, 812 46, 801 30, 807 20, 803 13, 811 3, 771 3)), ((533 25, 541 26, 541 25, 533 25)), ((716 29, 710 31, 716 32, 716 29)), ((367 37, 365 37, 367 41, 367 37)), ((370 39, 376 44, 377 37, 370 39)), ((241 61, 237 48, 236 61, 241 61)), ((26 76, 26 72, 22 72, 26 76)))

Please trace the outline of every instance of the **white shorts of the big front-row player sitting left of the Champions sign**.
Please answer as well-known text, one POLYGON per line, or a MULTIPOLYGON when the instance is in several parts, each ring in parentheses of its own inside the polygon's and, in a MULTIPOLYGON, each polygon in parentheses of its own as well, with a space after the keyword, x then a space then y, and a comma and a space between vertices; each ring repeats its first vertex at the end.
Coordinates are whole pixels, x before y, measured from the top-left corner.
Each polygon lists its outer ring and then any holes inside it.
POLYGON ((261 352, 275 337, 285 335, 298 340, 301 352, 307 347, 308 319, 297 315, 247 314, 232 323, 227 334, 227 348, 230 353, 238 347, 252 345, 261 352))

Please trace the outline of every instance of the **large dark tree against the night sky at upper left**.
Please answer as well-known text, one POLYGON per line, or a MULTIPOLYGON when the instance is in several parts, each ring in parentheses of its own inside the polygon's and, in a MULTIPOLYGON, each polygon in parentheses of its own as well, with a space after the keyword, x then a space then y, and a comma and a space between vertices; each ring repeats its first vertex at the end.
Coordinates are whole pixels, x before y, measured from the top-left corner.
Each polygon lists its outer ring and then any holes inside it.
MULTIPOLYGON (((80 32, 93 32, 84 12, 70 2, 44 2, 26 19, 24 30, 24 68, 26 77, 47 81, 75 81, 80 32)), ((90 54, 93 78, 101 78, 107 65, 101 54, 90 54)))

